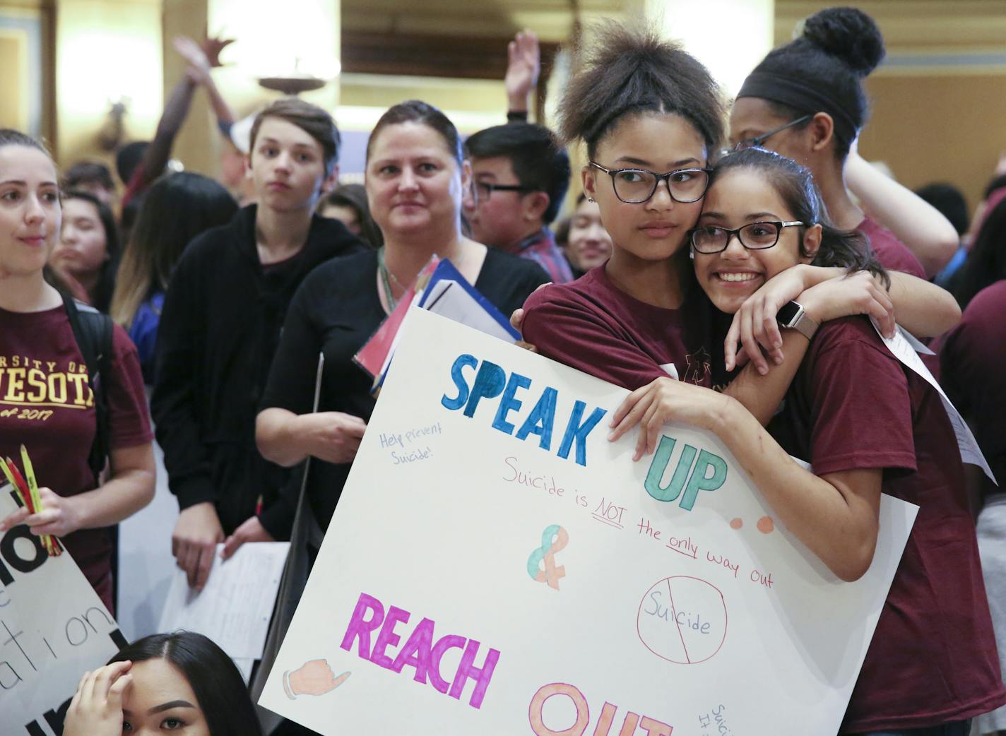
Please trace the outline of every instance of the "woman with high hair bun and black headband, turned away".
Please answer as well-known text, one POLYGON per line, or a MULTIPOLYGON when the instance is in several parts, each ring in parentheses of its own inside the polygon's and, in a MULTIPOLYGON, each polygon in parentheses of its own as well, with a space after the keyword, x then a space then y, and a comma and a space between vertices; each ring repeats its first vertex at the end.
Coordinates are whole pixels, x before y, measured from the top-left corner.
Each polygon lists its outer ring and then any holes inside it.
POLYGON ((957 249, 953 225, 855 152, 869 117, 862 81, 884 53, 880 30, 866 13, 815 13, 800 37, 770 51, 744 80, 730 112, 730 140, 735 148, 765 147, 808 167, 836 224, 867 235, 888 269, 926 279, 957 249), (865 215, 847 178, 893 232, 865 215))

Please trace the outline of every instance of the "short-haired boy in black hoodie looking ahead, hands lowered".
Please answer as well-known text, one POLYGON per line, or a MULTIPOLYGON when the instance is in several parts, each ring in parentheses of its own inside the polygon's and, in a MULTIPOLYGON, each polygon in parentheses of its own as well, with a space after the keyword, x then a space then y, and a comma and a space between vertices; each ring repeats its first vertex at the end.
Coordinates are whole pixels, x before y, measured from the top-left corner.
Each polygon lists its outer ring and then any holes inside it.
POLYGON ((322 261, 363 247, 313 214, 338 175, 338 147, 316 106, 285 99, 260 113, 248 153, 258 205, 196 237, 168 287, 151 408, 181 508, 173 552, 197 588, 217 542, 229 554, 289 535, 288 473, 256 449, 255 416, 294 292, 322 261))

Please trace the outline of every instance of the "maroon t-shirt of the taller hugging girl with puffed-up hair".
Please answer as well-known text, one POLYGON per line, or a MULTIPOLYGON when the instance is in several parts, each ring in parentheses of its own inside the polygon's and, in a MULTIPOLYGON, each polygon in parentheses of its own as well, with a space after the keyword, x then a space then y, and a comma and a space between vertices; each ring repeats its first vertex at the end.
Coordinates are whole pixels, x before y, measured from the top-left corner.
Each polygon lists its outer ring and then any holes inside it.
POLYGON ((534 292, 524 311, 524 340, 541 355, 631 390, 669 374, 709 387, 723 364, 712 305, 693 281, 681 308, 667 310, 630 297, 599 265, 534 292))

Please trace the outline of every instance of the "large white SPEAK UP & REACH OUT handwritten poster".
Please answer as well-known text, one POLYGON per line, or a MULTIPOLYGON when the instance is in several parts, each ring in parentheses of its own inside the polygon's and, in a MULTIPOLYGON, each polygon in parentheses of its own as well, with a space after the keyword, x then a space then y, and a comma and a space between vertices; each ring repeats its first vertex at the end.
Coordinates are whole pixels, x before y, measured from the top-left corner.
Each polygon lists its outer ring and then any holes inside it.
POLYGON ((915 507, 834 577, 713 435, 416 312, 261 704, 323 734, 835 733, 915 507))

